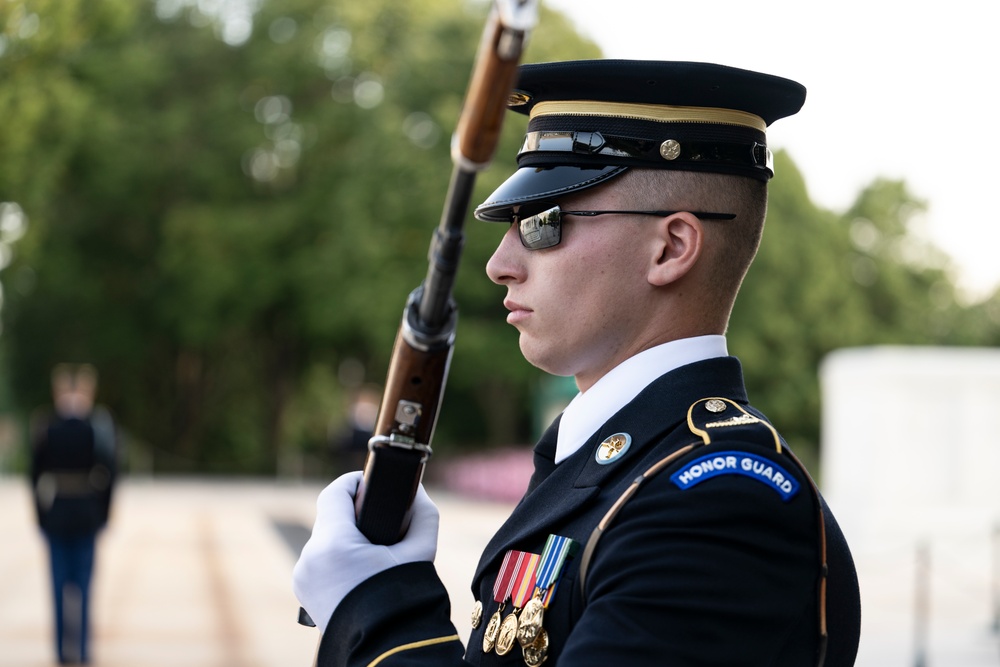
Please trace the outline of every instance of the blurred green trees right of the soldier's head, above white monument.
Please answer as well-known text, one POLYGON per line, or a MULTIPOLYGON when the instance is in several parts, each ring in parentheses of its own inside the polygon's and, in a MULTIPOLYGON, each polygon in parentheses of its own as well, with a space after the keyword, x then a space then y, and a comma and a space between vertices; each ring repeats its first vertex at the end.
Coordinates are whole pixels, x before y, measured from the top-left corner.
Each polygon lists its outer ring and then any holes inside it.
POLYGON ((959 302, 948 259, 920 236, 925 204, 903 183, 876 180, 836 215, 810 202, 787 154, 775 163, 729 349, 753 400, 808 456, 819 439, 818 368, 832 350, 986 341, 959 302))

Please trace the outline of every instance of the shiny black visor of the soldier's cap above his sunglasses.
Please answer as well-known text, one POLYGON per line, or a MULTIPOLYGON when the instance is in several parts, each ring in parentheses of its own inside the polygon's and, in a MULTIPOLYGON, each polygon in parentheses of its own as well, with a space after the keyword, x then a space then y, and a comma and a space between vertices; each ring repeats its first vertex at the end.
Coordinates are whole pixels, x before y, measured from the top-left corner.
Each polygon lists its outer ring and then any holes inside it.
POLYGON ((512 222, 514 207, 532 202, 552 202, 559 197, 611 180, 628 167, 522 167, 476 207, 484 222, 512 222))

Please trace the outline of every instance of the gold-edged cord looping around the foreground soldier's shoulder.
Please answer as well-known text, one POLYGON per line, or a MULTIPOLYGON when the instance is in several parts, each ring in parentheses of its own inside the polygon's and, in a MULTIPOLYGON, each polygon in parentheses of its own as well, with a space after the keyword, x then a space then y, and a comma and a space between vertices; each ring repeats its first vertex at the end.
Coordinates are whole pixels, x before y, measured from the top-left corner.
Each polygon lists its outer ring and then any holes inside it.
POLYGON ((778 453, 786 454, 788 458, 790 458, 792 462, 795 463, 796 467, 798 467, 802 475, 807 480, 809 480, 809 487, 812 489, 813 492, 813 500, 816 502, 816 509, 819 515, 817 523, 819 526, 819 557, 820 557, 819 591, 817 595, 817 597, 819 598, 819 605, 818 605, 819 606, 818 609, 819 650, 817 652, 816 666, 823 667, 823 663, 826 660, 827 641, 829 639, 826 628, 826 578, 827 578, 828 567, 826 562, 826 522, 823 516, 823 503, 820 501, 819 488, 816 486, 816 482, 813 481, 812 475, 809 474, 809 471, 806 470, 804 465, 802 465, 802 462, 799 461, 798 457, 796 457, 795 454, 793 454, 790 449, 782 447, 781 438, 778 436, 778 432, 771 424, 764 421, 763 419, 760 419, 750 414, 731 399, 704 398, 700 401, 696 401, 691 405, 690 408, 688 408, 687 423, 688 423, 688 428, 691 429, 691 432, 700 437, 702 442, 693 443, 690 445, 686 445, 685 447, 681 447, 672 454, 669 454, 668 456, 660 459, 652 466, 650 466, 649 469, 646 470, 646 472, 636 477, 635 480, 632 482, 632 484, 630 484, 629 487, 625 489, 625 491, 622 493, 622 495, 618 497, 618 500, 616 500, 614 505, 611 506, 611 509, 607 511, 607 513, 604 515, 604 518, 602 518, 600 523, 597 524, 597 527, 594 528, 593 532, 591 532, 590 538, 587 540, 587 545, 584 547, 583 554, 580 557, 580 593, 586 596, 587 570, 590 567, 590 560, 594 555, 594 551, 597 549, 597 543, 600 541, 601 537, 604 535, 604 532, 608 529, 608 526, 614 520, 615 516, 618 515, 618 512, 620 512, 622 507, 625 506, 625 503, 627 503, 636 494, 636 492, 639 490, 639 487, 642 486, 642 484, 646 480, 650 479, 651 477, 659 473, 661 470, 669 466, 671 463, 681 458, 685 454, 688 454, 689 452, 693 451, 694 449, 698 447, 705 447, 712 444, 712 437, 709 434, 709 429, 720 428, 724 426, 737 426, 742 424, 759 423, 765 426, 771 432, 772 436, 774 437, 775 448, 778 451, 778 453), (708 401, 723 401, 727 405, 735 407, 737 410, 739 410, 741 414, 739 417, 734 417, 724 421, 708 423, 705 425, 704 429, 698 428, 697 426, 694 425, 694 420, 692 419, 694 409, 699 404, 706 403, 708 401))

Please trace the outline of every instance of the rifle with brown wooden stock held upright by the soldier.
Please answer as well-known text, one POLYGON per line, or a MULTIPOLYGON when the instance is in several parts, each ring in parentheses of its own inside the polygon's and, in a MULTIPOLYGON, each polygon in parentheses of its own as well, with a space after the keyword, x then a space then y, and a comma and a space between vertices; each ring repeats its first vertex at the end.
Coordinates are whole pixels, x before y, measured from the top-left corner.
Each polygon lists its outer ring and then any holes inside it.
POLYGON ((431 456, 458 321, 452 287, 464 243, 462 227, 476 174, 496 151, 517 66, 537 21, 537 4, 496 0, 480 41, 452 137, 451 181, 431 239, 427 277, 403 309, 356 498, 358 528, 373 544, 395 544, 406 533, 409 508, 431 456))

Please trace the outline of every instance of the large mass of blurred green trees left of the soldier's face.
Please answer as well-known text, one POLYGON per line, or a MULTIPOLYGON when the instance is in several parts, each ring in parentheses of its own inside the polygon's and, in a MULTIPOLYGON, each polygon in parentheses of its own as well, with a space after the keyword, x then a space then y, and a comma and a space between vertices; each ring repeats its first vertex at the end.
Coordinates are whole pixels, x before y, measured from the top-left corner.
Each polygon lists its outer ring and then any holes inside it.
MULTIPOLYGON (((159 469, 270 471, 283 443, 321 454, 337 366, 381 381, 426 270, 487 5, 84 4, 0 9, 0 201, 30 220, 3 273, 14 395, 46 400, 48 368, 86 358, 159 469)), ((558 15, 539 32, 536 60, 598 55, 558 15)), ((514 437, 534 373, 493 350, 489 231, 469 230, 445 444, 514 437)))

